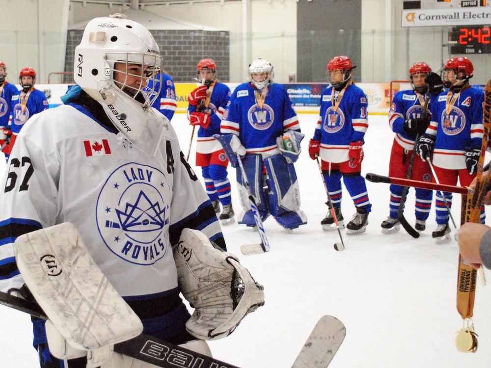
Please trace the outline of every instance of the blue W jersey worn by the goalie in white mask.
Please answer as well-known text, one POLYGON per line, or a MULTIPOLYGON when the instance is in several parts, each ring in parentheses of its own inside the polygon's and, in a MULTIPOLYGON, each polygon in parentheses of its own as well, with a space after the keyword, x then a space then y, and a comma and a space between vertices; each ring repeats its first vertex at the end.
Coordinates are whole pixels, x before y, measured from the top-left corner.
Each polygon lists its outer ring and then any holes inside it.
POLYGON ((249 154, 269 157, 279 154, 276 138, 288 130, 300 131, 299 119, 286 89, 281 84, 270 84, 261 107, 250 83, 235 88, 221 122, 222 134, 239 136, 249 154))

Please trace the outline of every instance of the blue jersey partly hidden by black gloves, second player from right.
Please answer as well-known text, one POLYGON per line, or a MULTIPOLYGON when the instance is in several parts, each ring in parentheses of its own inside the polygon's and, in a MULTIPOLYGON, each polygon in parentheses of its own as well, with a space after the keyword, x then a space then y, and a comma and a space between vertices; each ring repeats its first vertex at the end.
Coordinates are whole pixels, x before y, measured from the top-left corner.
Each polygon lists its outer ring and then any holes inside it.
MULTIPOLYGON (((420 95, 421 96, 421 95, 420 95)), ((422 95, 421 99, 426 98, 426 95, 422 95)), ((431 114, 431 106, 434 105, 436 95, 430 95, 428 100, 427 111, 431 114)), ((389 111, 389 126, 390 129, 396 133, 395 140, 405 150, 412 151, 414 147, 414 139, 416 134, 408 133, 404 131, 404 121, 406 119, 420 118, 423 113, 423 106, 419 101, 416 92, 412 89, 405 91, 399 91, 392 98, 389 111)))

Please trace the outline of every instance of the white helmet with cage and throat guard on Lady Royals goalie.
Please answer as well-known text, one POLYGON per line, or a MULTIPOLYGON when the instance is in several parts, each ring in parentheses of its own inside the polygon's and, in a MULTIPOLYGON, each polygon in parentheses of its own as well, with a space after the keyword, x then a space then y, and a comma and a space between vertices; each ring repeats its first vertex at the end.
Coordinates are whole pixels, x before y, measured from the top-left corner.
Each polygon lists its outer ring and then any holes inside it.
POLYGON ((161 65, 148 29, 119 14, 92 19, 75 49, 75 82, 103 106, 124 138, 150 155, 169 124, 151 108, 160 93, 161 65), (147 87, 150 80, 153 88, 147 87))

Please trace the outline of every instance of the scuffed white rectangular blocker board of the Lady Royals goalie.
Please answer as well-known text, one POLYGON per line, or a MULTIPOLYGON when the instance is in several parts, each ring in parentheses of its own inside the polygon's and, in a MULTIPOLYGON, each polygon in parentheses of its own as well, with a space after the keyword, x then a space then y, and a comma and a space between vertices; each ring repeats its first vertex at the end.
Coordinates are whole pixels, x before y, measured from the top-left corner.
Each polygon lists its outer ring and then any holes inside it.
POLYGON ((63 338, 96 350, 136 337, 140 319, 90 256, 77 228, 65 222, 15 241, 19 270, 63 338))

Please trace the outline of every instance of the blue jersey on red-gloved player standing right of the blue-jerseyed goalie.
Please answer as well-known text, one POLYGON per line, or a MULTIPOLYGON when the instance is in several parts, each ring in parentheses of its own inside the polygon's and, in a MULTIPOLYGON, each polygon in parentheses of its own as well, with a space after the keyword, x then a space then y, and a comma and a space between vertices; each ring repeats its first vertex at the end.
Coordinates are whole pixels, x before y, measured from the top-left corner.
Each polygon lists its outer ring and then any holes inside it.
POLYGON ((319 120, 312 138, 321 143, 321 158, 333 163, 348 161, 350 142, 363 142, 368 128, 367 98, 361 88, 348 85, 338 107, 334 108, 339 94, 332 85, 322 92, 319 120))

